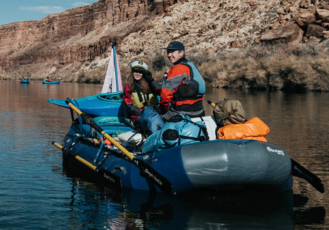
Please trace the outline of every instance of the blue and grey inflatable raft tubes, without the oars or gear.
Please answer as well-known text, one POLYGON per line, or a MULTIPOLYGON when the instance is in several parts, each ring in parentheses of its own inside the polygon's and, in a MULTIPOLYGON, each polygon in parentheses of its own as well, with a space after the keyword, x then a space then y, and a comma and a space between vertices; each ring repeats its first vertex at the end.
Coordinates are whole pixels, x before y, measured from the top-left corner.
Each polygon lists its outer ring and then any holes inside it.
MULTIPOLYGON (((99 125, 110 135, 118 130, 132 131, 124 123, 99 125)), ((123 187, 160 191, 117 149, 106 148, 108 145, 105 143, 95 146, 95 143, 90 142, 95 138, 92 133, 88 125, 80 125, 77 121, 71 126, 63 140, 64 149, 74 153, 63 155, 68 166, 79 163, 75 159, 75 155, 78 155, 98 168, 117 175, 123 187)), ((101 136, 101 133, 97 133, 97 136, 101 136)), ((140 147, 126 146, 126 149, 168 179, 174 193, 203 188, 256 188, 271 191, 292 188, 289 155, 274 144, 256 140, 212 140, 175 146, 148 155, 141 154, 140 147)), ((83 165, 81 167, 86 170, 83 165)))

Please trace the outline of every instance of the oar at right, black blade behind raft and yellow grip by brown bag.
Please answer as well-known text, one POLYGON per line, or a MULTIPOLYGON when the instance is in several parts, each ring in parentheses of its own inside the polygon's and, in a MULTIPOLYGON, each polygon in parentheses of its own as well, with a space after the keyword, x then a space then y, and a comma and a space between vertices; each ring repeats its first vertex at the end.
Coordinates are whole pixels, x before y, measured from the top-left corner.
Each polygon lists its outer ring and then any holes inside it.
MULTIPOLYGON (((212 107, 216 106, 216 104, 212 103, 211 101, 208 101, 208 104, 212 107)), ((324 193, 324 183, 321 181, 321 179, 319 179, 317 175, 313 174, 312 172, 295 162, 294 159, 291 159, 291 171, 293 176, 300 177, 308 181, 308 183, 310 183, 316 190, 321 193, 324 193)))

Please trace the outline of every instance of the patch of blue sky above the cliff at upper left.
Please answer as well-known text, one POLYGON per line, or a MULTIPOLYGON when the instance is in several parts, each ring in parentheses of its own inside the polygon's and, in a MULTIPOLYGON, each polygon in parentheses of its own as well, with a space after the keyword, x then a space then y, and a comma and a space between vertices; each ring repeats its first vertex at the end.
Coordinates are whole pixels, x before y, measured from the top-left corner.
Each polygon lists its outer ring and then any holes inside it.
POLYGON ((41 20, 49 14, 95 2, 97 0, 0 0, 0 25, 41 20))

